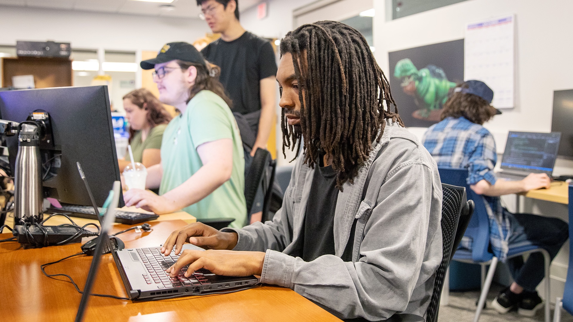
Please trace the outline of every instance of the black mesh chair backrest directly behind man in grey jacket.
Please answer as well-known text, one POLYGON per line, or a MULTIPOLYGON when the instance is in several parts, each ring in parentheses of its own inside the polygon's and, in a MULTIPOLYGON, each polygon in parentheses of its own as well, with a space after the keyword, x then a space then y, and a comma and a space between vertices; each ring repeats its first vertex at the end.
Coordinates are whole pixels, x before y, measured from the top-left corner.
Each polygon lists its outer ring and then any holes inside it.
POLYGON ((430 305, 426 311, 426 321, 435 322, 438 319, 439 300, 444 287, 444 278, 446 277, 446 270, 450 265, 450 254, 452 253, 452 245, 454 237, 456 236, 456 229, 458 226, 458 219, 462 205, 466 202, 465 188, 450 186, 449 184, 442 183, 442 191, 444 197, 442 199, 442 262, 439 264, 435 276, 434 289, 431 294, 430 305))

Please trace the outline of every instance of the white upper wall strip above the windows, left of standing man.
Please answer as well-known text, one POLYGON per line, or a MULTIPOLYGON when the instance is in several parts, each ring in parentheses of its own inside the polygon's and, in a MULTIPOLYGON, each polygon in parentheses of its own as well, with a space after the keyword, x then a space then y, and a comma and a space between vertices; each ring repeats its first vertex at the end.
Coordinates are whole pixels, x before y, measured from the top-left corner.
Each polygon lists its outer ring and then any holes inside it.
POLYGON ((0 6, 0 44, 16 40, 71 42, 72 48, 154 50, 166 42, 205 36, 201 19, 91 13, 69 10, 0 6))

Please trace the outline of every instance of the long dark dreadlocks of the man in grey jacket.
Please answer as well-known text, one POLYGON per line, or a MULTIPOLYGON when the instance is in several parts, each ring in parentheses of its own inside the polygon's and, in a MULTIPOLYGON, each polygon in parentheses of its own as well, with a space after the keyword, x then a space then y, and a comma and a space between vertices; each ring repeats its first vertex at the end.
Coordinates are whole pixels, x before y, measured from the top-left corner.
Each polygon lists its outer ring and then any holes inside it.
POLYGON ((304 163, 314 168, 323 155, 332 160, 336 187, 342 191, 347 180, 354 183, 386 119, 404 125, 390 84, 366 39, 344 23, 300 26, 286 34, 280 47, 281 57, 292 54, 301 89, 300 131, 286 123, 282 109, 282 152, 295 146, 300 150, 304 137, 304 163))

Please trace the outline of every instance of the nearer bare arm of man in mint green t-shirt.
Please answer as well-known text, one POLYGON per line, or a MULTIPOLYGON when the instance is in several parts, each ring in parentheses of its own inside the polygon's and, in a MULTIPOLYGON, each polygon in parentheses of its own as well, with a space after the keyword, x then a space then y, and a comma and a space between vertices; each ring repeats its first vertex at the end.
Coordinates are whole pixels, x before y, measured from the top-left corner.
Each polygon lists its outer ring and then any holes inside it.
POLYGON ((124 194, 126 206, 136 206, 156 214, 193 205, 207 197, 231 178, 233 170, 233 140, 220 139, 197 147, 203 166, 175 189, 158 196, 151 191, 132 189, 124 194))

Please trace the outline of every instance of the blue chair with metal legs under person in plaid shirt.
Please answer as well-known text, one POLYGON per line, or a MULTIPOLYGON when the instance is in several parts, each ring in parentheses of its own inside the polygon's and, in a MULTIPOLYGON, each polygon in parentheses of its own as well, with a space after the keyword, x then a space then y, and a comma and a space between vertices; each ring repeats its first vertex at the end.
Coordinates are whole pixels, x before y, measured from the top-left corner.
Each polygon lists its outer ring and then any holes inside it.
MULTIPOLYGON (((468 195, 468 200, 473 200, 475 209, 473 211, 472 219, 470 219, 468 229, 464 237, 470 238, 472 241, 472 250, 458 249, 452 258, 454 261, 465 262, 468 264, 481 265, 481 294, 480 300, 477 303, 476 315, 474 322, 480 319, 481 310, 484 308, 486 297, 488 296, 489 286, 492 284, 493 273, 495 273, 497 262, 499 258, 495 257, 493 253, 489 252, 489 217, 485 210, 485 201, 481 195, 474 193, 468 185, 468 170, 465 168, 446 168, 439 167, 439 176, 442 183, 452 184, 453 186, 465 187, 468 195), (489 265, 489 270, 486 273, 486 267, 489 265)), ((550 322, 550 264, 551 257, 549 253, 543 248, 535 245, 523 245, 512 247, 509 245, 507 258, 523 256, 525 254, 540 252, 545 259, 545 322, 550 322)))

